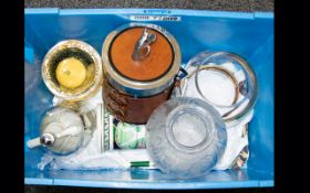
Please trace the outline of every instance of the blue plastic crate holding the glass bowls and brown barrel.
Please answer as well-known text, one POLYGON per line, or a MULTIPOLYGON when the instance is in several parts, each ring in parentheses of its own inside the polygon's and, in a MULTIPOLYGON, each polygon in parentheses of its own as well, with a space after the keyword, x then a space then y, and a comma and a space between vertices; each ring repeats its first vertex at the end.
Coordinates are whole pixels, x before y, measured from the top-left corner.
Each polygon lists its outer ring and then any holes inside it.
MULTIPOLYGON (((42 62, 56 42, 78 39, 101 53, 105 36, 128 22, 167 29, 178 41, 182 60, 204 50, 228 51, 245 57, 259 81, 256 114, 249 125, 250 158, 241 171, 214 171, 193 180, 174 180, 156 170, 44 171, 37 169, 42 149, 24 149, 24 183, 132 189, 227 189, 273 186, 273 13, 158 9, 25 9, 25 58, 42 62), (144 17, 141 17, 144 15, 144 17), (29 55, 29 54, 34 54, 29 55)), ((27 73, 27 72, 25 72, 27 73)), ((38 76, 40 73, 38 74, 38 76)), ((39 135, 52 95, 42 79, 25 95, 25 140, 39 135)))

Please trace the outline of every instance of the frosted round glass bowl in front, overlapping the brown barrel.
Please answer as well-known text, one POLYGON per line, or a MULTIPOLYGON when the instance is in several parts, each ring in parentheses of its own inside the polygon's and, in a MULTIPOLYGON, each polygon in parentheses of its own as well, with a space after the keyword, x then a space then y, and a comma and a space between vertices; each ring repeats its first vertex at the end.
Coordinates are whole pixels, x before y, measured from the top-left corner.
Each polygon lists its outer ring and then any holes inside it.
POLYGON ((169 99, 151 115, 146 148, 156 167, 178 179, 206 174, 221 158, 227 143, 225 122, 206 101, 169 99))

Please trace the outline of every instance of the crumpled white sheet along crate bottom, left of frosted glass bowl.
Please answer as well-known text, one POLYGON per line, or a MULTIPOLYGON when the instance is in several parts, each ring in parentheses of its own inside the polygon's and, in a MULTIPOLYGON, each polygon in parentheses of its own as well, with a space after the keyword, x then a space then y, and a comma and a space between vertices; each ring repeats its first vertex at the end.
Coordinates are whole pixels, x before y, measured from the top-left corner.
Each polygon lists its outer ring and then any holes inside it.
POLYGON ((38 168, 44 170, 46 165, 50 165, 50 170, 125 170, 131 168, 132 162, 148 161, 151 165, 147 169, 155 169, 146 149, 110 150, 101 153, 95 150, 94 144, 90 143, 80 152, 68 157, 46 153, 41 158, 38 168))

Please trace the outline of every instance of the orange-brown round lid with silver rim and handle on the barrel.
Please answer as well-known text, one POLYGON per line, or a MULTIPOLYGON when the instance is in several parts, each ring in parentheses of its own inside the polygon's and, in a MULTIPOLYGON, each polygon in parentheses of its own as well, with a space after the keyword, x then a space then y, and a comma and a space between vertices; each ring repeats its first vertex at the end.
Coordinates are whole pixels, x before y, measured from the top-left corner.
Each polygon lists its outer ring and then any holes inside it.
POLYGON ((107 35, 102 60, 106 78, 115 88, 145 97, 174 83, 180 67, 180 50, 163 28, 130 23, 107 35))

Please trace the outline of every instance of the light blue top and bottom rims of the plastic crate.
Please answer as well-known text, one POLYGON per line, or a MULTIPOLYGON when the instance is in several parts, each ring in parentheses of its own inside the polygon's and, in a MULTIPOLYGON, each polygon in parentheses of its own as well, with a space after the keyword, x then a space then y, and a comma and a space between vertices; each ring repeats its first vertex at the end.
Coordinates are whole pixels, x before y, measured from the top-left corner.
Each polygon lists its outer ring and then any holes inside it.
MULTIPOLYGON (((149 14, 149 15, 190 15, 206 18, 227 19, 267 19, 273 20, 273 12, 236 12, 194 9, 147 9, 147 8, 103 8, 103 9, 60 9, 60 8, 25 8, 24 15, 56 14, 56 15, 83 15, 83 14, 149 14)), ((113 189, 153 189, 153 190, 192 190, 192 189, 231 189, 231 187, 271 187, 272 180, 246 180, 246 181, 204 181, 204 182, 122 182, 122 181, 84 181, 69 179, 38 179, 24 178, 24 184, 70 185, 113 189)))

